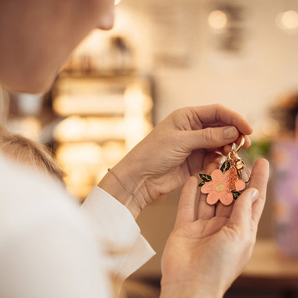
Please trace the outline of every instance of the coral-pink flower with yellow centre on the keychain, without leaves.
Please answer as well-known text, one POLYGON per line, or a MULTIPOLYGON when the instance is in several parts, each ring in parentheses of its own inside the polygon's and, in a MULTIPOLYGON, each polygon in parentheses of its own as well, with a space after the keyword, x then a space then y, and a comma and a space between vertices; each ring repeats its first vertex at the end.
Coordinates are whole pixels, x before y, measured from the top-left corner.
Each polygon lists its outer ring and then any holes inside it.
MULTIPOLYGON (((225 174, 222 174, 221 170, 213 170, 211 173, 212 181, 204 184, 201 189, 202 193, 208 193, 208 204, 216 204, 218 200, 224 205, 229 205, 233 202, 233 194, 229 191, 230 172, 231 170, 227 170, 225 174)), ((243 189, 245 189, 245 182, 237 179, 235 191, 243 191, 243 189)))

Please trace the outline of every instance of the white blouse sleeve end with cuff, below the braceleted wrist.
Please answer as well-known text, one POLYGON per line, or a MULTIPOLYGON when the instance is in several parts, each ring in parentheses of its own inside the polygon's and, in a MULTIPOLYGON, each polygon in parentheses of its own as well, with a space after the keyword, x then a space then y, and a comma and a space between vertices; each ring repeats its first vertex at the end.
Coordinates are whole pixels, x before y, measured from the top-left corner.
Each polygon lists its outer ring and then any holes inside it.
POLYGON ((89 213, 98 240, 119 252, 109 262, 117 277, 129 277, 155 255, 130 211, 100 187, 94 188, 81 208, 89 213))

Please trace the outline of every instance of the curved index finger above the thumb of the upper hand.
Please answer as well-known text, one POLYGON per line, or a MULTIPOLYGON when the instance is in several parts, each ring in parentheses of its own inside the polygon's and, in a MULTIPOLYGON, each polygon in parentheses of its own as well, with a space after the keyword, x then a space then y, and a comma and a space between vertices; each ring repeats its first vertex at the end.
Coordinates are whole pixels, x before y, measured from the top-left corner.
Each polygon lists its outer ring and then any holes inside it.
POLYGON ((240 114, 222 105, 205 105, 193 108, 202 124, 222 123, 236 127, 242 134, 252 134, 252 126, 240 114))

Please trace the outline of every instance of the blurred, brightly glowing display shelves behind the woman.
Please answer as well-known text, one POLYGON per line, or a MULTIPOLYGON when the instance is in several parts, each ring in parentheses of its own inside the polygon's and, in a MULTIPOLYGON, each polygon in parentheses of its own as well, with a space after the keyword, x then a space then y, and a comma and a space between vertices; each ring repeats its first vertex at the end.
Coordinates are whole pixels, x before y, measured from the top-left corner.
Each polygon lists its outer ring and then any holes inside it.
POLYGON ((152 130, 152 80, 135 73, 62 73, 52 89, 55 158, 69 191, 91 189, 152 130))

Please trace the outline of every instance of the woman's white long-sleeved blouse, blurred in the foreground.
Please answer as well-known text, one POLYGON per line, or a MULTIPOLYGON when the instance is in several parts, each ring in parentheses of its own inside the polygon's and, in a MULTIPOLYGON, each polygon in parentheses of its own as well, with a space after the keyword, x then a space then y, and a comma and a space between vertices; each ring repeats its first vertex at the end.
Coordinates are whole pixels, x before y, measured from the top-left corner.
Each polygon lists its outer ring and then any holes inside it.
POLYGON ((0 297, 113 297, 110 272, 125 279, 155 254, 128 209, 97 186, 79 207, 1 155, 0 177, 0 297))

